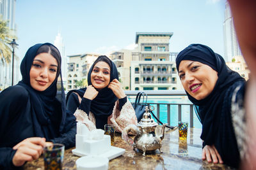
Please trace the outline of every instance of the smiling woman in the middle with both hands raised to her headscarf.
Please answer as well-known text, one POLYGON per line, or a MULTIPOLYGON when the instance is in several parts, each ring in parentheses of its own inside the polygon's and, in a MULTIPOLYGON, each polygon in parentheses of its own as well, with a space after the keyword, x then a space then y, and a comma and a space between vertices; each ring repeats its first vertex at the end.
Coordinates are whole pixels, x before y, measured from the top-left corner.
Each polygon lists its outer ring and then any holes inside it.
POLYGON ((75 113, 90 129, 115 125, 122 132, 129 124, 137 124, 135 111, 118 81, 115 64, 105 55, 99 56, 88 72, 88 87, 67 94, 67 110, 75 113))

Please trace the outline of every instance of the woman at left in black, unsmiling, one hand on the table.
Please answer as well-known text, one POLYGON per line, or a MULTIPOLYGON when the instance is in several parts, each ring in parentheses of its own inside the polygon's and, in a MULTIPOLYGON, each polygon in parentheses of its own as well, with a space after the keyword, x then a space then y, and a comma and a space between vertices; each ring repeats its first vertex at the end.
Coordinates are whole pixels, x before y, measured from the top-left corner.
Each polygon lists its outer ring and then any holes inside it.
POLYGON ((50 43, 29 48, 20 64, 22 80, 0 94, 0 169, 38 159, 45 141, 75 145, 76 118, 56 99, 61 56, 50 43))

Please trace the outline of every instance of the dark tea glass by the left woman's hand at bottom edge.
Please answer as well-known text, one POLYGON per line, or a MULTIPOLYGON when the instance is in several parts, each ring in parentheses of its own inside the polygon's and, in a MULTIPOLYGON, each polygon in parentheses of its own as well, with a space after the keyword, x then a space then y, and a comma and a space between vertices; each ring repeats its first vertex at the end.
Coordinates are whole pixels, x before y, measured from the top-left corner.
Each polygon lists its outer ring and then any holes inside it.
POLYGON ((44 147, 44 169, 62 169, 65 146, 60 143, 54 143, 51 146, 44 147))

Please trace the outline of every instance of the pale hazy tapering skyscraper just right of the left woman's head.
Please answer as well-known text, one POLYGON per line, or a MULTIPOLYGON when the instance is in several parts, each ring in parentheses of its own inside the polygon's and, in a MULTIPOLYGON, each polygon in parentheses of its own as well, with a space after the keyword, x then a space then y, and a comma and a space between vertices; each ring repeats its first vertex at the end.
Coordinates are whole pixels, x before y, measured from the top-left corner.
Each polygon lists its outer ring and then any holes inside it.
POLYGON ((64 87, 67 89, 67 56, 66 56, 66 52, 65 52, 65 45, 63 43, 63 38, 62 38, 60 32, 58 32, 58 35, 56 36, 56 38, 54 40, 54 45, 60 51, 62 80, 63 80, 64 87))

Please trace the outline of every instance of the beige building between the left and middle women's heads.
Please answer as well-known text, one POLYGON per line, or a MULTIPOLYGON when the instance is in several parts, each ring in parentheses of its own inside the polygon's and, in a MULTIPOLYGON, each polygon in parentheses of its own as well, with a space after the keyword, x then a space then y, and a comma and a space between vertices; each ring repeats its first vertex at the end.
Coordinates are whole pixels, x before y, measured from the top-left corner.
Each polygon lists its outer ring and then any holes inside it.
POLYGON ((67 90, 79 89, 77 81, 86 79, 87 74, 93 62, 99 57, 99 54, 85 53, 79 55, 68 55, 69 58, 67 69, 67 90))

